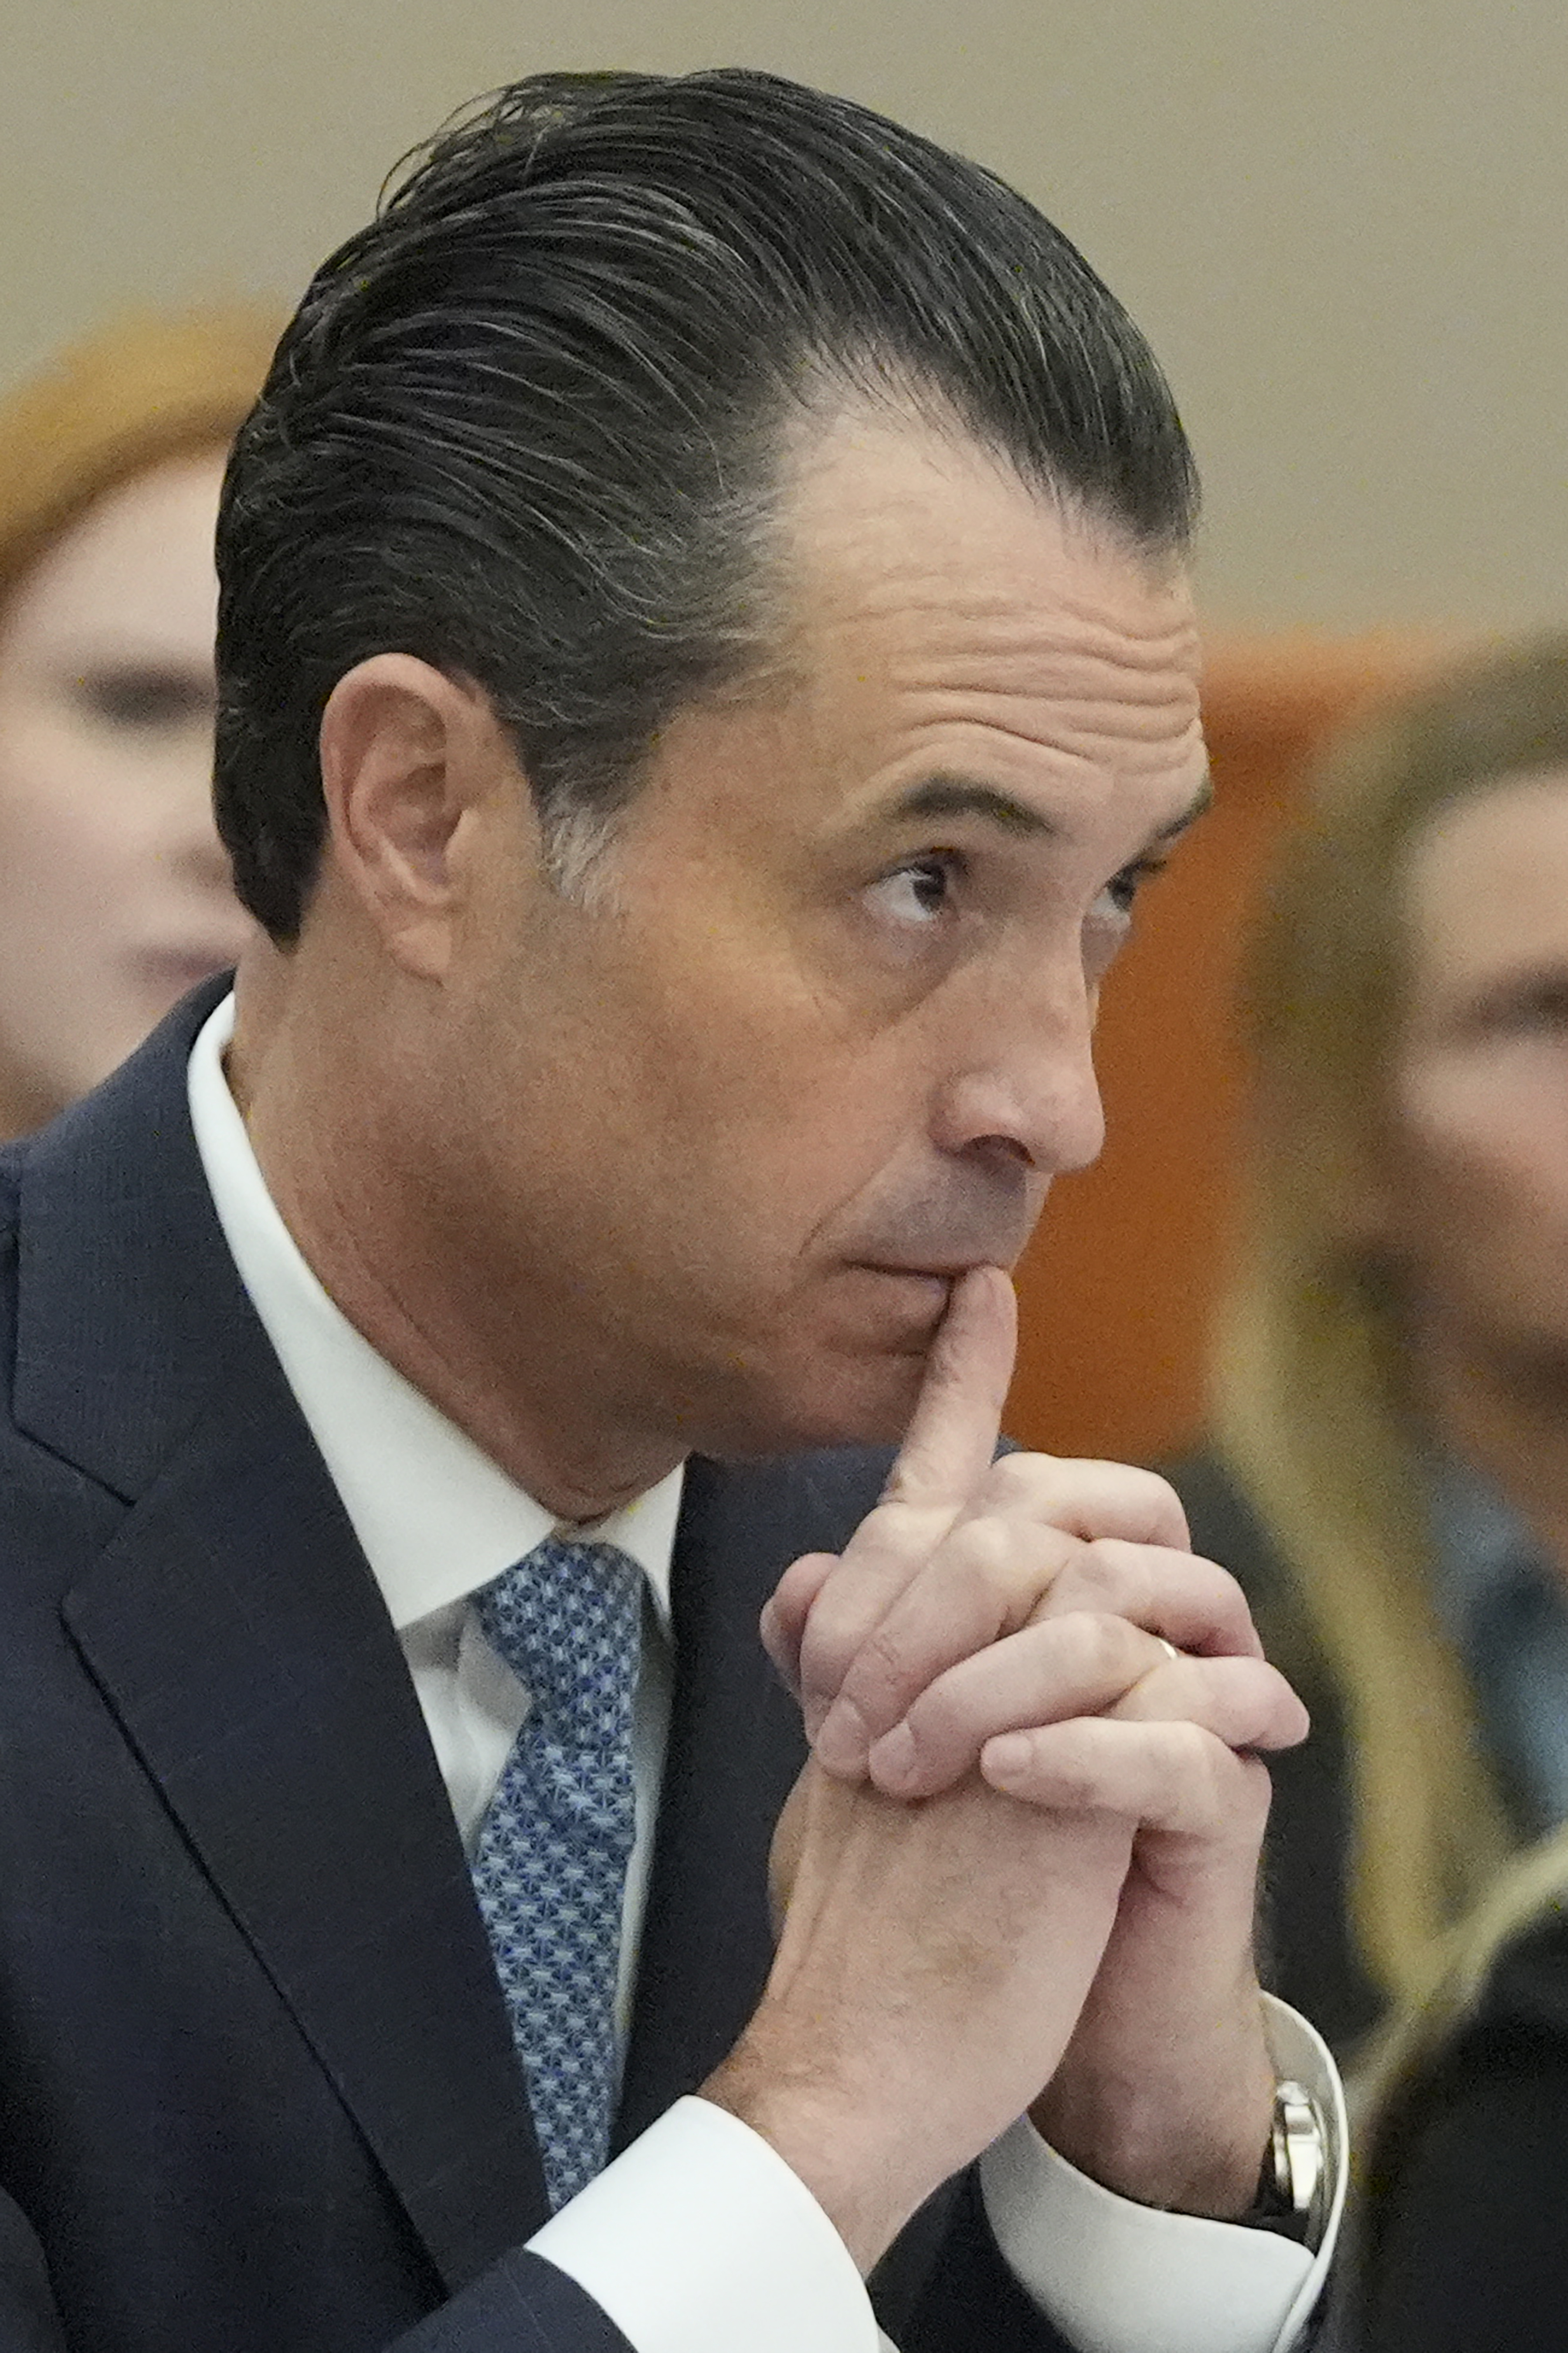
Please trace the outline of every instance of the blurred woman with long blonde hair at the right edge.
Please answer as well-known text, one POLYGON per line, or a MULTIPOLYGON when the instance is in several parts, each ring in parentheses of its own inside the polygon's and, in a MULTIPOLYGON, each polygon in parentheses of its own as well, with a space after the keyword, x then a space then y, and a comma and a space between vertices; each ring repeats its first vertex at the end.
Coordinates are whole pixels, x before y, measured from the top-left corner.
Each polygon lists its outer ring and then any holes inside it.
POLYGON ((1260 951, 1212 1442, 1175 1482, 1314 1715, 1271 1944, 1347 2045, 1568 1817, 1568 640, 1340 746, 1260 951))

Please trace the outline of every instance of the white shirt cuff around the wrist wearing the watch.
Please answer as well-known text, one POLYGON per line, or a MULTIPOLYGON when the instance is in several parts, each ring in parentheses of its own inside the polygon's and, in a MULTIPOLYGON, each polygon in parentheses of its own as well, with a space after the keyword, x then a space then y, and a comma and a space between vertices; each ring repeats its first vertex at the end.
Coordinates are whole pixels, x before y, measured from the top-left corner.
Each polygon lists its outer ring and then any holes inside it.
POLYGON ((1316 2249, 1116 2198, 1026 2118, 979 2160, 1008 2268, 1081 2353, 1285 2353, 1307 2325, 1344 2209, 1344 2092, 1307 2019, 1271 1995, 1264 2007, 1281 2080, 1304 2082, 1323 2115, 1333 2193, 1316 2249))

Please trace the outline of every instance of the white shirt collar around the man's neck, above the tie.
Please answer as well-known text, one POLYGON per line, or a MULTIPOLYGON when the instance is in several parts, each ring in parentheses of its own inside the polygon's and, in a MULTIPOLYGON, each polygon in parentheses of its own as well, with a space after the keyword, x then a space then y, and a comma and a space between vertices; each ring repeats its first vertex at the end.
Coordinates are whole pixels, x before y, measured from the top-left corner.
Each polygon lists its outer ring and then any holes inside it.
MULTIPOLYGON (((506 1478, 454 1421, 356 1332, 306 1266, 257 1165, 224 1078, 233 998, 191 1049, 195 1148, 240 1282, 398 1631, 487 1586, 563 1522, 506 1478)), ((669 1574, 683 1473, 577 1537, 617 1544, 638 1562, 669 1633, 669 1574)))

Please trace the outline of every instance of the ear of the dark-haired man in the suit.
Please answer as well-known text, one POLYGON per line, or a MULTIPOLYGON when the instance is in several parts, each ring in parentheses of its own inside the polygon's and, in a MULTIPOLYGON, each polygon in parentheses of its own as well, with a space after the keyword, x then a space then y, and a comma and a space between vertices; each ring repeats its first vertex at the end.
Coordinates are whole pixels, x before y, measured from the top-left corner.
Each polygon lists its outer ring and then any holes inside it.
POLYGON ((346 671, 320 720, 330 859, 417 979, 440 979, 473 880, 464 856, 516 767, 490 696, 414 654, 346 671))

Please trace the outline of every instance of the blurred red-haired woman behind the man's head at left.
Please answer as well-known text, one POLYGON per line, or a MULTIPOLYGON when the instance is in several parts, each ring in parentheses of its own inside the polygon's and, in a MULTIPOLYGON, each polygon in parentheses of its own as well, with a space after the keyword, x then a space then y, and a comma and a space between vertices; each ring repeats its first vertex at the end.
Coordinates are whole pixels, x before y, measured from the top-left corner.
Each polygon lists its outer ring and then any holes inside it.
POLYGON ((212 532, 275 336, 132 320, 0 400, 0 1139, 245 941, 212 826, 212 532))

